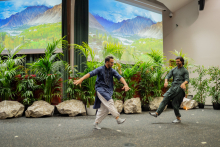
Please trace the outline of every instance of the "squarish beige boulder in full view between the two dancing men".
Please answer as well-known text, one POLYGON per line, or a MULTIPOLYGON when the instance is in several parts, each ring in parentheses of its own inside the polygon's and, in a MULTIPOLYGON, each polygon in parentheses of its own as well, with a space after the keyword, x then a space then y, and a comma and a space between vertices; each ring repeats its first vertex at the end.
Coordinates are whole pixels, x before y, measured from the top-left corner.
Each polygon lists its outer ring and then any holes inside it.
POLYGON ((140 98, 131 98, 124 103, 125 113, 141 113, 141 100, 140 98))

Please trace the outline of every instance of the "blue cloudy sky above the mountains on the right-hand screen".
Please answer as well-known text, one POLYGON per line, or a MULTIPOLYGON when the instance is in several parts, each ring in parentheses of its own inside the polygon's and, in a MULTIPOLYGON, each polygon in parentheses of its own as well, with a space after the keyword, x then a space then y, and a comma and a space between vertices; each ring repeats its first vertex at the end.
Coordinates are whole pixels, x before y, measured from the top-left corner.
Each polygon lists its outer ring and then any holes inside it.
POLYGON ((92 14, 98 14, 99 16, 115 23, 132 19, 136 16, 151 18, 156 22, 162 21, 161 14, 115 0, 89 0, 89 12, 92 14))

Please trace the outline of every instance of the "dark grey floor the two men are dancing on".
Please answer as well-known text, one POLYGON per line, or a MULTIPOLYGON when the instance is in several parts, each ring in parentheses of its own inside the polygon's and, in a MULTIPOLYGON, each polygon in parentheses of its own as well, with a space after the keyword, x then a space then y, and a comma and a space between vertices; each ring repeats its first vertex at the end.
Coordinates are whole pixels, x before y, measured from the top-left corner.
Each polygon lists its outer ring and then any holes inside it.
POLYGON ((181 110, 182 124, 172 124, 172 109, 158 118, 122 114, 118 125, 111 115, 94 130, 95 116, 54 116, 0 120, 0 147, 220 147, 220 110, 181 110))

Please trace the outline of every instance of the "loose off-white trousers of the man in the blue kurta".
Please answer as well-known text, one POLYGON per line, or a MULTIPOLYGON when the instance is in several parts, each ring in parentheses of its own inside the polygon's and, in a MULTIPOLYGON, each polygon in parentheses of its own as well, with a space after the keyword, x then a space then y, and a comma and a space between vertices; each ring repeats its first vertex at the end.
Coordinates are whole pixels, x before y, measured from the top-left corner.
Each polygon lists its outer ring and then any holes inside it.
POLYGON ((109 101, 107 101, 98 91, 97 91, 97 96, 102 103, 96 114, 95 122, 100 124, 102 120, 108 115, 109 112, 115 118, 120 116, 117 109, 115 108, 113 99, 110 99, 109 101))

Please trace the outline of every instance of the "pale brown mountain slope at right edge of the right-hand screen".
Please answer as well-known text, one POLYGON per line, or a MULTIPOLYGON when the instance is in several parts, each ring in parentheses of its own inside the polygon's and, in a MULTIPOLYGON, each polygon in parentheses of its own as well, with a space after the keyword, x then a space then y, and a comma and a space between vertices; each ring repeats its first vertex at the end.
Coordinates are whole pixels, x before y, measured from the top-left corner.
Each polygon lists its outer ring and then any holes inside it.
POLYGON ((142 29, 138 35, 144 38, 163 39, 162 22, 158 22, 150 27, 142 29))

